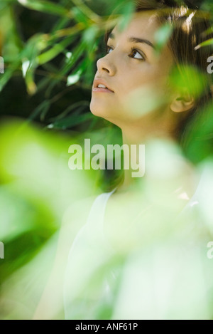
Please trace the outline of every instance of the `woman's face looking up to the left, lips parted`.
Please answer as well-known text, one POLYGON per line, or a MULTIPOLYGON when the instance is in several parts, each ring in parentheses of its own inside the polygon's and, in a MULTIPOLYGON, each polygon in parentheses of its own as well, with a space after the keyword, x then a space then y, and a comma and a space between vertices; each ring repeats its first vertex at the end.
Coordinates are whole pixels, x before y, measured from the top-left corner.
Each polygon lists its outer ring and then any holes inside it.
POLYGON ((139 12, 124 31, 118 26, 113 29, 107 55, 97 61, 90 103, 94 115, 122 129, 143 125, 145 114, 162 108, 173 56, 168 46, 160 54, 155 51, 159 27, 153 15, 139 12), (98 88, 99 83, 110 90, 98 88))

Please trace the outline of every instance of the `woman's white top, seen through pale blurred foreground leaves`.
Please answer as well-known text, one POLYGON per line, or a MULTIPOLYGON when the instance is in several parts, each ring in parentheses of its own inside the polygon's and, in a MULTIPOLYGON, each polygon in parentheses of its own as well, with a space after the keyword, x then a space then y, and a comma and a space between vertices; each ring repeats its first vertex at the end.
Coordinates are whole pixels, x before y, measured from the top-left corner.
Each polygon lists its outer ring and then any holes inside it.
MULTIPOLYGON (((185 216, 188 219, 197 204, 207 198, 203 181, 207 179, 202 177, 180 220, 184 221, 185 216)), ((127 256, 123 264, 120 262, 121 271, 116 271, 114 250, 104 236, 104 213, 114 191, 94 200, 87 223, 70 249, 64 286, 65 318, 211 318, 212 296, 208 298, 208 293, 213 292, 213 259, 207 259, 210 240, 209 236, 205 239, 205 233, 200 234, 204 225, 199 217, 195 221, 197 214, 192 213, 192 224, 186 220, 180 227, 185 231, 180 231, 177 240, 172 236, 158 244, 155 239, 144 252, 127 256)))

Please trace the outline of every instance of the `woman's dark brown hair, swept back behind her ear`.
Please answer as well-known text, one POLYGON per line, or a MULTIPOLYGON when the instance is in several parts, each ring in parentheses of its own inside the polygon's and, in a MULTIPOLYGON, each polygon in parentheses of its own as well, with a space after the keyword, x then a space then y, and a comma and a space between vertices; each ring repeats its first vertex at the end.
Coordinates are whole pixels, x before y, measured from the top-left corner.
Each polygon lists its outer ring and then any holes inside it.
MULTIPOLYGON (((179 74, 185 82, 185 88, 191 95, 195 94, 195 107, 180 120, 176 129, 175 135, 184 145, 186 134, 195 116, 202 112, 206 105, 212 103, 212 76, 207 73, 207 59, 212 56, 212 46, 197 47, 209 38, 213 38, 210 15, 190 1, 136 0, 133 3, 136 12, 154 11, 160 24, 168 23, 173 27, 168 46, 173 53, 179 74), (196 69, 197 78, 190 77, 192 73, 185 71, 187 66, 196 69), (202 80, 202 93, 197 94, 196 80, 202 80)), ((107 31, 105 35, 106 44, 109 33, 110 31, 107 31)))

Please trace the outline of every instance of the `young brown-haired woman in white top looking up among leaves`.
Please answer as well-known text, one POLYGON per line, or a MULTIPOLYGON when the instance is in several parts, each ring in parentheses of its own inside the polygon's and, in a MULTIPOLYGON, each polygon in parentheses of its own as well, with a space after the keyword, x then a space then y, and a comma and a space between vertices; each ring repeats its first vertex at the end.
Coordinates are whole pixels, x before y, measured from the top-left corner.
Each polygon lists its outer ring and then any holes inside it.
POLYGON ((212 101, 212 49, 199 47, 211 37, 210 24, 206 13, 188 5, 136 1, 127 26, 107 32, 90 108, 121 128, 124 144, 136 145, 137 162, 146 145, 146 174, 133 178, 125 169, 122 184, 93 202, 70 249, 66 318, 212 317, 212 283, 203 272, 210 263, 197 262, 209 237, 197 239, 199 182, 175 144, 187 142, 193 118, 212 101), (163 29, 170 36, 160 48, 163 29))

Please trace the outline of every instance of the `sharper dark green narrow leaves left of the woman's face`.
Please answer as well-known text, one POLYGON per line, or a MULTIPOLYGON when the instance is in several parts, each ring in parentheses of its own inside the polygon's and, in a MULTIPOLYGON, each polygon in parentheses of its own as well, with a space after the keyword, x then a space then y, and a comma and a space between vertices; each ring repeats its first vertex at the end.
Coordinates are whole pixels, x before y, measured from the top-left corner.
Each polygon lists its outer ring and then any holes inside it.
POLYGON ((107 17, 119 3, 129 15, 129 1, 124 0, 1 1, 0 43, 6 66, 0 78, 1 115, 63 130, 93 128, 97 120, 88 105, 96 60, 104 51, 107 17), (69 110, 69 105, 75 107, 69 110), (81 116, 72 124, 69 115, 74 109, 81 116))

